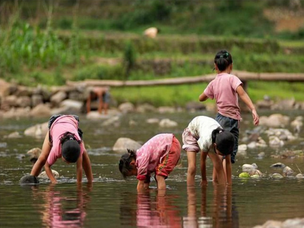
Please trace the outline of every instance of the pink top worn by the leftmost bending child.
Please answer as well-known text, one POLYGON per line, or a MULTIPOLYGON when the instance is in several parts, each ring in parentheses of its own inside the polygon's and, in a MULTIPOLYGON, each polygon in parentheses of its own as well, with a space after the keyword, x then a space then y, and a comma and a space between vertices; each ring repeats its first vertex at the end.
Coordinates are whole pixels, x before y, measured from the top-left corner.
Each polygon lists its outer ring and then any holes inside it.
MULTIPOLYGON (((66 132, 74 134, 77 140, 81 140, 78 134, 78 121, 73 116, 60 116, 58 117, 50 127, 50 136, 52 137, 52 148, 49 156, 47 157, 47 163, 53 165, 57 158, 61 158, 61 143, 60 139, 66 132)), ((80 143, 80 156, 84 153, 84 143, 80 143)))

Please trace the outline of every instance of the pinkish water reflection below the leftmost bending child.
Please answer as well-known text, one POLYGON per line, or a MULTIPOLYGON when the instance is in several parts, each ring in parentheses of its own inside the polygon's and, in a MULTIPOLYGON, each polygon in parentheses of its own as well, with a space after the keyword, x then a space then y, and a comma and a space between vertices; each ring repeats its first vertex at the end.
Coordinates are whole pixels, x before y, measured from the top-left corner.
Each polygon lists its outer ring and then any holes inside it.
POLYGON ((60 191, 51 184, 44 192, 38 192, 33 188, 33 198, 40 195, 43 203, 40 203, 39 212, 43 227, 83 227, 86 217, 85 208, 90 197, 92 185, 87 184, 85 188, 77 185, 77 190, 60 191))

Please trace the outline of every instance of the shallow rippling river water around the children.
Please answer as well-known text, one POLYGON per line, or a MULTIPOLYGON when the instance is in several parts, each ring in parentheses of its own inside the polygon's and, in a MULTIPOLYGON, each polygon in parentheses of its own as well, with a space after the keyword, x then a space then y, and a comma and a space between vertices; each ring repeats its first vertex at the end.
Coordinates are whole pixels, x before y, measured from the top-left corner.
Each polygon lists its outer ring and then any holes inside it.
MULTIPOLYGON (((48 180, 39 185, 19 185, 23 175, 32 167, 30 148, 42 146, 43 139, 23 136, 6 139, 13 131, 23 131, 44 119, 0 119, 0 227, 254 227, 269 219, 285 220, 304 217, 304 180, 282 178, 274 180, 269 173, 282 173, 269 166, 281 162, 295 173, 304 173, 304 158, 273 158, 284 150, 304 149, 302 139, 286 143, 283 148, 256 148, 245 155, 237 155, 232 168, 232 186, 220 187, 208 181, 206 188, 199 187, 197 170, 196 188, 186 188, 186 153, 182 151, 181 164, 169 175, 167 190, 157 191, 152 181, 150 190, 137 194, 137 180, 125 181, 118 170, 120 154, 112 147, 119 137, 128 137, 145 143, 155 134, 174 133, 181 142, 181 134, 194 116, 202 113, 176 114, 126 114, 120 126, 103 127, 102 121, 92 121, 80 116, 80 128, 91 158, 94 173, 93 185, 76 182, 75 165, 57 161, 52 166, 60 173, 57 185, 48 180), (148 118, 169 118, 179 125, 161 129, 157 124, 147 124, 148 118), (137 122, 129 126, 129 121, 137 122), (265 152, 264 158, 257 156, 265 152), (24 157, 25 156, 25 157, 24 157), (244 163, 257 163, 266 174, 260 179, 238 178, 244 163)), ((269 115, 271 113, 259 113, 269 115)), ((293 117, 303 112, 285 113, 293 117)), ((215 114, 204 112, 214 117, 215 114)), ((252 117, 242 114, 240 139, 245 130, 252 130, 252 117)), ((289 128, 289 127, 288 127, 289 128)), ((290 129, 291 130, 291 129, 290 129)), ((263 136, 266 140, 266 136, 263 136)), ((240 142, 241 143, 241 142, 240 142)), ((212 164, 207 161, 208 179, 212 164)), ((199 166, 198 166, 199 167, 199 166)))

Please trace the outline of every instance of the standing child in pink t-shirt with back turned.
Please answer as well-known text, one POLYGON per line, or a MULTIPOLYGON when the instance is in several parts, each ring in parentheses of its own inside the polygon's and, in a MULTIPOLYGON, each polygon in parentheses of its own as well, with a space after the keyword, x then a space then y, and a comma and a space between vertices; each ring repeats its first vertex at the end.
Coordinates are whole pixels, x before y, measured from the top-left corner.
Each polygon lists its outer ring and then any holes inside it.
MULTIPOLYGON (((259 125, 259 115, 252 104, 252 100, 242 87, 241 80, 231 75, 232 72, 232 56, 227 50, 220 50, 214 58, 214 67, 218 75, 206 87, 204 92, 199 96, 201 102, 206 99, 214 99, 218 107, 218 114, 215 120, 226 131, 230 131, 235 136, 235 148, 231 155, 231 162, 235 163, 237 155, 239 128, 240 128, 240 107, 237 95, 252 111, 254 125, 259 125)), ((224 159, 224 165, 227 159, 224 159)))

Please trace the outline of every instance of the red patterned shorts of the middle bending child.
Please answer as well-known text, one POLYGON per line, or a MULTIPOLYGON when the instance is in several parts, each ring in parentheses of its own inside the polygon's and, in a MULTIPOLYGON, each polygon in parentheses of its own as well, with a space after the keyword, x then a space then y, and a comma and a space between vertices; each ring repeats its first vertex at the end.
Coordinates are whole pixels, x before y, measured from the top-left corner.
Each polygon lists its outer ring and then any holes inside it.
POLYGON ((179 140, 176 139, 175 136, 173 136, 172 144, 169 153, 167 153, 167 156, 164 156, 162 158, 162 163, 160 163, 155 173, 156 175, 162 175, 165 178, 168 177, 169 173, 172 172, 174 167, 179 162, 179 158, 181 156, 181 143, 179 143, 179 140))

